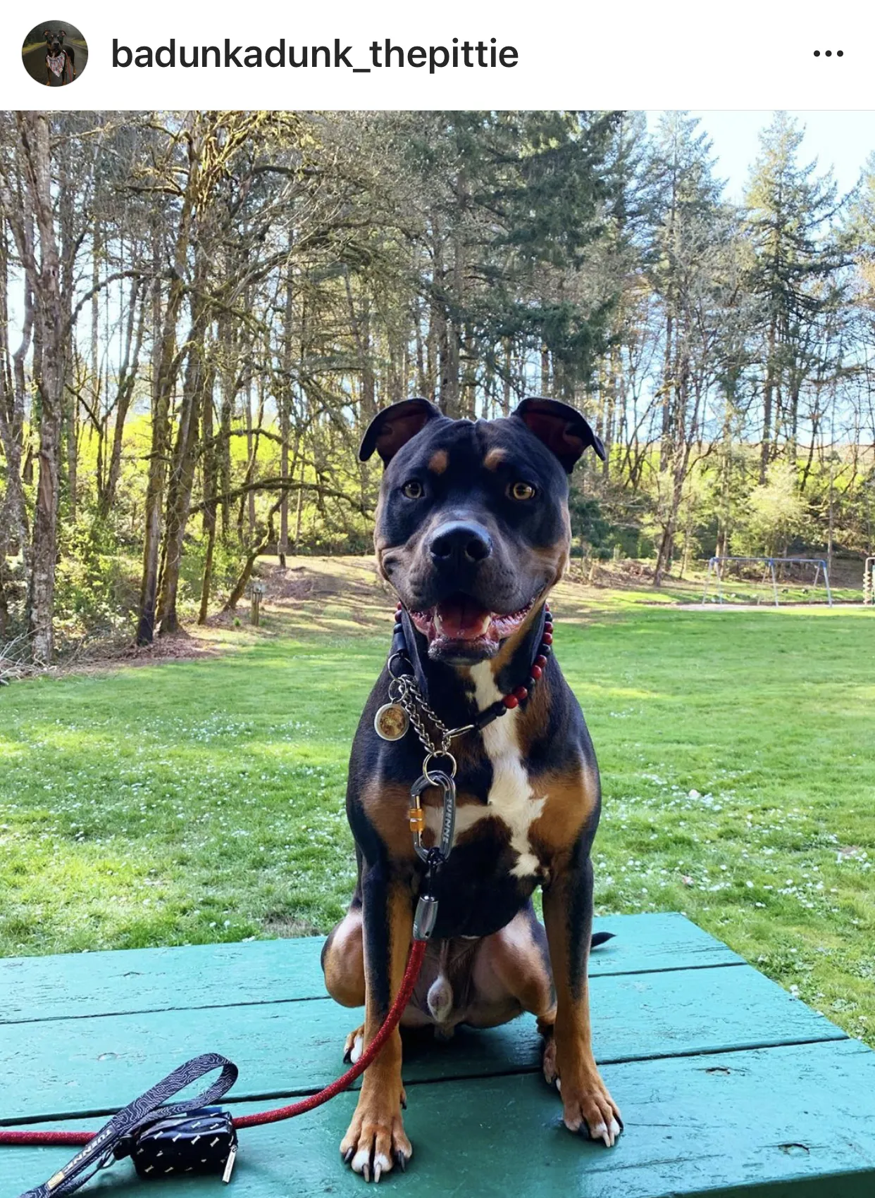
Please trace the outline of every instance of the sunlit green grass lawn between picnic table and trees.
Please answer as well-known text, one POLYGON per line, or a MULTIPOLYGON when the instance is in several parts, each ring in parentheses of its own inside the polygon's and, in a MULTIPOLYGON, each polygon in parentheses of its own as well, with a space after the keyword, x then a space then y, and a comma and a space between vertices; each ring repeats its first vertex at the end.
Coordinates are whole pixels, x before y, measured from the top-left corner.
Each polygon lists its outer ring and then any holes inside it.
MULTIPOLYGON (((391 627, 367 569, 211 658, 0 690, 0 954, 330 927, 391 627)), ((583 592, 554 607, 602 766, 597 909, 682 910, 875 1045, 875 612, 583 592)))

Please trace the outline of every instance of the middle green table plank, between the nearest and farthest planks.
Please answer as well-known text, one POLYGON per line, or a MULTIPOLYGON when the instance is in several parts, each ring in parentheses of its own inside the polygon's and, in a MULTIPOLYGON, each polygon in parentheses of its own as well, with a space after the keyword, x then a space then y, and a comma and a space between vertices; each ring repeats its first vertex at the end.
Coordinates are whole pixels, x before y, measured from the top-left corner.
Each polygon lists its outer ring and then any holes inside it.
MULTIPOLYGON (((602 1061, 844 1039, 845 1033, 750 966, 596 978, 596 1054, 602 1061)), ((13 1023, 0 1046, 0 1120, 123 1106, 189 1057, 224 1053, 241 1071, 235 1094, 307 1093, 342 1069, 343 1040, 361 1019, 330 999, 145 1015, 13 1023)), ((541 1040, 524 1017, 448 1045, 416 1036, 411 1081, 533 1070, 541 1040)))

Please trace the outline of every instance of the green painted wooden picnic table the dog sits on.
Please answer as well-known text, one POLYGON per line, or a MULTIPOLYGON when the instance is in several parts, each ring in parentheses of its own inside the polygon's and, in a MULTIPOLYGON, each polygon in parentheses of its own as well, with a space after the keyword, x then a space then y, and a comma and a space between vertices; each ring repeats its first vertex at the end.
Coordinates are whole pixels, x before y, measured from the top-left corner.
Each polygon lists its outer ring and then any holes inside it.
MULTIPOLYGON (((567 1132, 523 1017, 449 1043, 405 1034, 411 1198, 873 1198, 875 1053, 678 914, 597 920, 596 1057, 626 1131, 608 1150, 567 1132)), ((325 994, 321 938, 0 961, 0 1126, 97 1127, 198 1053, 240 1066, 234 1113, 313 1093, 343 1069, 356 1011, 325 994)), ((129 1161, 83 1191, 156 1198, 362 1196, 338 1144, 355 1094, 241 1132, 231 1187, 140 1182, 129 1161)), ((0 1198, 68 1148, 0 1149, 0 1198)))

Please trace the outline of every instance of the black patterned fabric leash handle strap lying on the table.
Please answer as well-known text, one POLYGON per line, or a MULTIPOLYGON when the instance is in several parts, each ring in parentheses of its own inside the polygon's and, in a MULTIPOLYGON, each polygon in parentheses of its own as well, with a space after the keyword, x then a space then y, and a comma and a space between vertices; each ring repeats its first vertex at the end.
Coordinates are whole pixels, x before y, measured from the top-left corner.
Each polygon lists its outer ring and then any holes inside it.
POLYGON ((68 1161, 62 1169, 53 1174, 48 1181, 34 1190, 28 1190, 20 1198, 59 1198, 61 1194, 71 1194, 79 1186, 84 1185, 89 1178, 110 1164, 114 1160, 114 1149, 126 1137, 131 1136, 140 1124, 159 1115, 167 1119, 170 1115, 182 1114, 195 1107, 209 1107, 222 1099, 237 1079, 237 1066, 219 1053, 207 1052, 200 1057, 193 1057, 185 1065, 180 1065, 173 1073, 158 1082, 139 1099, 134 1099, 123 1111, 114 1114, 108 1124, 97 1132, 93 1139, 77 1152, 72 1161, 68 1161), (192 1082, 197 1082, 204 1073, 213 1069, 222 1072, 216 1081, 209 1085, 203 1094, 191 1099, 188 1102, 176 1102, 164 1106, 168 1099, 179 1094, 192 1082))

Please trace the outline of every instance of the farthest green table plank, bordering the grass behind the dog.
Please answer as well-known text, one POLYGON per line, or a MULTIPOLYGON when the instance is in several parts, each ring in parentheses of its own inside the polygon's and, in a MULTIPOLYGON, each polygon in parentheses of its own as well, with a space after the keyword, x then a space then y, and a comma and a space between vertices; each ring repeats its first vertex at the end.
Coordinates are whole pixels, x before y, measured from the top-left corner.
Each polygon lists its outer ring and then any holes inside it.
MULTIPOLYGON (((683 915, 611 915, 616 938, 592 956, 593 976, 743 964, 683 915)), ((133 1011, 277 1003, 325 994, 322 937, 126 949, 0 961, 0 1023, 133 1011)))

